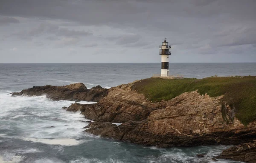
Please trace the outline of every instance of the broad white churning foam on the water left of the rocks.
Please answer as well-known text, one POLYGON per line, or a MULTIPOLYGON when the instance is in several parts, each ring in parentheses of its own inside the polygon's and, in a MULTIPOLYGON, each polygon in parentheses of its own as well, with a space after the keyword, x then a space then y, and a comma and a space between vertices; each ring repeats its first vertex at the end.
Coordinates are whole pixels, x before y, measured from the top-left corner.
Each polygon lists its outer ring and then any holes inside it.
MULTIPOLYGON (((76 139, 90 135, 82 132, 88 123, 80 112, 67 112, 61 109, 72 103, 75 101, 53 101, 46 96, 12 97, 9 92, 0 92, 0 129, 15 129, 18 135, 12 138, 31 142, 77 145, 79 142, 76 139)), ((1 134, 0 137, 6 135, 1 134)))

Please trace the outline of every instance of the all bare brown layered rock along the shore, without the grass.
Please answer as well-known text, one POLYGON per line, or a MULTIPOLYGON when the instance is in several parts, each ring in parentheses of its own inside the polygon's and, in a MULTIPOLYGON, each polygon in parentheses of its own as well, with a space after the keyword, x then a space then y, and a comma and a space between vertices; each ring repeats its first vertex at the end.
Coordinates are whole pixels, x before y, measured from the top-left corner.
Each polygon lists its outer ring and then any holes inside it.
POLYGON ((244 126, 236 119, 233 105, 222 101, 223 96, 209 97, 192 91, 153 103, 133 91, 132 85, 111 89, 100 86, 87 89, 82 83, 36 86, 12 95, 47 94, 52 100, 99 101, 74 103, 66 109, 81 111, 93 120, 85 131, 105 138, 158 147, 244 143, 225 150, 218 158, 255 163, 256 122, 244 126))

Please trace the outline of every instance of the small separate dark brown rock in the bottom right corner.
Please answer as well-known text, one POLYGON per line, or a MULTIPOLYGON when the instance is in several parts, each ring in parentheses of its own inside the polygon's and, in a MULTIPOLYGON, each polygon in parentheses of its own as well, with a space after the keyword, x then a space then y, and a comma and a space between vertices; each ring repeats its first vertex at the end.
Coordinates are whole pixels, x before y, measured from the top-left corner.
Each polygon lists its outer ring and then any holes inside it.
POLYGON ((256 140, 251 143, 243 143, 238 146, 230 147, 216 158, 256 163, 256 140))

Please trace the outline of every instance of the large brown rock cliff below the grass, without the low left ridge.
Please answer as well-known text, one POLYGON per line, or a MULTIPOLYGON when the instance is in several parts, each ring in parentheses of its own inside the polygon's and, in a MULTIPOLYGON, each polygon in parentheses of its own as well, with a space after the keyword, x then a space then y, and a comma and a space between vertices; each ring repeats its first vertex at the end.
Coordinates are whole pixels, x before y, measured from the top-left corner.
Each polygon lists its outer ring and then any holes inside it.
POLYGON ((142 94, 119 86, 98 103, 79 107, 85 117, 98 121, 90 123, 87 132, 146 146, 230 145, 253 140, 256 124, 244 126, 221 98, 192 91, 150 103, 142 94))

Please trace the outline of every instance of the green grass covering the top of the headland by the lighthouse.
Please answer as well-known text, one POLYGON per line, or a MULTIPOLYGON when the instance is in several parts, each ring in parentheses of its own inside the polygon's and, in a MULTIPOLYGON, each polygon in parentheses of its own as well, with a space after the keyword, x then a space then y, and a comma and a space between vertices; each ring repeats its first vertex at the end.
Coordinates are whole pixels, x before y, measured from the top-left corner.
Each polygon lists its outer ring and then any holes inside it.
POLYGON ((133 90, 145 94, 148 100, 170 100, 184 92, 198 89, 211 97, 224 95, 223 103, 236 108, 236 117, 247 125, 256 120, 256 77, 207 77, 204 79, 149 78, 134 83, 133 90))

